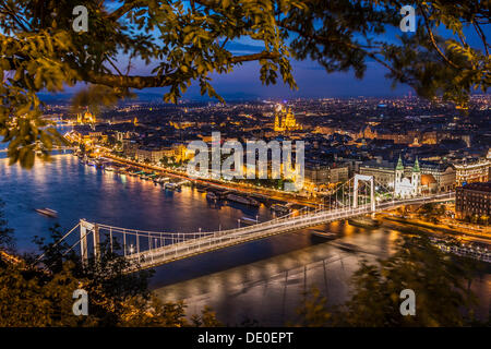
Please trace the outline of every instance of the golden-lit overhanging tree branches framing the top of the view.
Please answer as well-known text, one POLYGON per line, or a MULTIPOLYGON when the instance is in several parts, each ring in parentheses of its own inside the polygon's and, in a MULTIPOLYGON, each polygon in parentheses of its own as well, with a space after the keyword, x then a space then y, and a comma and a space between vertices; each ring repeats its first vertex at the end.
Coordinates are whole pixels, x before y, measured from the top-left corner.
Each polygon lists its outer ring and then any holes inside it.
POLYGON ((47 158, 59 135, 40 118, 40 91, 88 84, 75 104, 111 104, 131 88, 168 87, 176 103, 192 82, 220 98, 213 73, 231 72, 248 61, 260 64, 260 80, 280 77, 297 85, 290 59, 312 59, 327 72, 354 70, 362 77, 370 61, 383 64, 394 84, 423 97, 465 104, 472 89, 490 84, 490 56, 483 26, 490 2, 408 1, 418 11, 417 33, 400 33, 399 1, 349 0, 86 0, 88 32, 72 29, 73 0, 0 1, 0 135, 10 142, 11 163, 47 158), (441 28, 450 34, 440 36, 441 28), (470 46, 465 29, 482 45, 470 46), (261 52, 233 55, 227 43, 247 38, 261 52), (125 69, 117 58, 129 58, 125 69), (154 68, 132 75, 131 61, 154 68))

